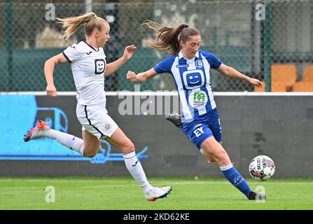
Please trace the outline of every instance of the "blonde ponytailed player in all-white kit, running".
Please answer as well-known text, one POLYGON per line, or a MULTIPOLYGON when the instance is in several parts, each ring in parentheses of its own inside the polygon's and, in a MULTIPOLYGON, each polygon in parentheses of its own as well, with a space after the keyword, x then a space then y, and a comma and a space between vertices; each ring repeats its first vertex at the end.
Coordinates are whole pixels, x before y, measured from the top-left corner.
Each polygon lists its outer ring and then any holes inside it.
POLYGON ((132 57, 136 47, 134 45, 127 46, 123 57, 106 64, 103 47, 110 38, 110 27, 106 20, 97 17, 95 13, 58 20, 63 24, 64 37, 66 38, 74 34, 83 25, 86 40, 69 46, 59 55, 46 61, 44 68, 47 81, 46 92, 50 97, 57 96, 57 90, 53 83, 53 70, 55 65, 69 62, 77 89, 76 115, 82 125, 83 139, 53 130, 47 123, 41 121, 25 134, 24 140, 29 141, 45 137, 56 139, 71 150, 92 158, 97 154, 101 144, 100 139, 105 139, 123 153, 128 171, 143 189, 147 200, 155 201, 158 198, 166 197, 172 191, 172 187, 156 188, 148 183, 144 169, 134 151, 134 144, 106 111, 104 77, 109 76, 127 62, 132 57))

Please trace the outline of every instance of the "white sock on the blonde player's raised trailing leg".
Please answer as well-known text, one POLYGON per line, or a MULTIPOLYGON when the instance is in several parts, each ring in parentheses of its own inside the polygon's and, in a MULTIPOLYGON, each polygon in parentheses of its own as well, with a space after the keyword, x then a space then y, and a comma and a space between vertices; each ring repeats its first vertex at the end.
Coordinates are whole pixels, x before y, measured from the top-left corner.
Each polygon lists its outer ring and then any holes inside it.
POLYGON ((78 137, 74 137, 74 135, 67 134, 64 132, 59 132, 57 130, 50 130, 50 138, 55 139, 63 146, 67 146, 67 148, 70 148, 71 150, 77 151, 78 153, 81 153, 83 155, 83 146, 84 141, 83 139, 80 139, 78 137))

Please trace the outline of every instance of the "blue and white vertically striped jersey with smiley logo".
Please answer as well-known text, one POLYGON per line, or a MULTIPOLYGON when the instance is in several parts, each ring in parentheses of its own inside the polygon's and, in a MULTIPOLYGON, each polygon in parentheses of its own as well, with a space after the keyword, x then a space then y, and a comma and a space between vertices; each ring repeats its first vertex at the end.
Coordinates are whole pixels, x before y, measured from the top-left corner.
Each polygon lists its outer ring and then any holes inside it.
POLYGON ((157 73, 172 74, 183 107, 183 118, 190 120, 216 108, 209 70, 218 69, 221 64, 211 52, 199 50, 193 59, 186 59, 179 52, 153 69, 157 73))

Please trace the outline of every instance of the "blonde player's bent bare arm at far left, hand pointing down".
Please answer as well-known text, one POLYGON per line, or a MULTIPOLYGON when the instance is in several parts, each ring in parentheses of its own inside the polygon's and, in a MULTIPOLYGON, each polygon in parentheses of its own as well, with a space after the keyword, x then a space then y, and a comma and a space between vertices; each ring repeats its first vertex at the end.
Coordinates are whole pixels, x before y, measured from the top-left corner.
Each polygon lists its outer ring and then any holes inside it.
POLYGON ((53 81, 53 71, 55 70, 55 66, 57 64, 67 63, 67 59, 64 57, 63 53, 59 55, 55 55, 54 57, 49 58, 46 60, 45 63, 45 77, 47 82, 46 93, 50 97, 57 96, 57 90, 55 88, 55 83, 53 81))

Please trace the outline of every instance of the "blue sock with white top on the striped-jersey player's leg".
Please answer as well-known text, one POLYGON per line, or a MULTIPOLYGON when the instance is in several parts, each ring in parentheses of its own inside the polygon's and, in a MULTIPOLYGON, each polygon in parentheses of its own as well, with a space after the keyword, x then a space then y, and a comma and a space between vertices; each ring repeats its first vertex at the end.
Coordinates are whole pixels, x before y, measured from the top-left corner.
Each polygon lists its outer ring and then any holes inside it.
POLYGON ((248 183, 246 183, 242 175, 237 172, 237 169, 235 169, 232 164, 220 168, 226 179, 228 179, 228 181, 230 181, 233 186, 235 186, 244 195, 246 195, 247 198, 249 198, 249 193, 251 193, 252 190, 249 188, 248 183))

